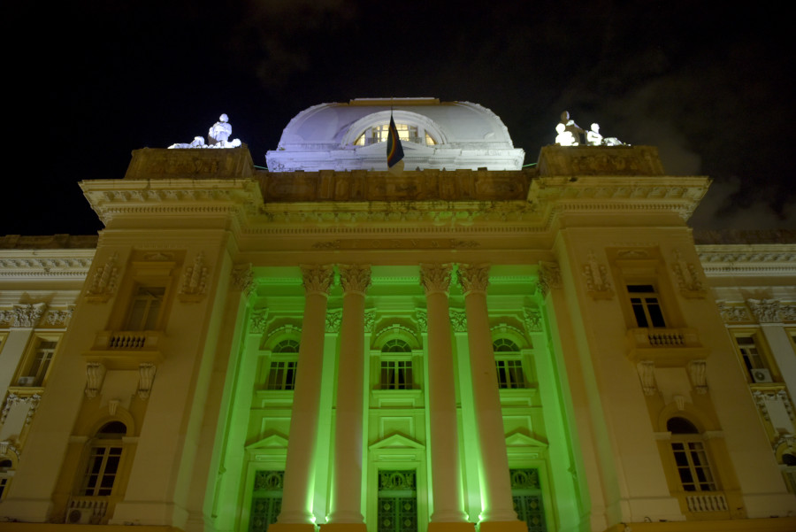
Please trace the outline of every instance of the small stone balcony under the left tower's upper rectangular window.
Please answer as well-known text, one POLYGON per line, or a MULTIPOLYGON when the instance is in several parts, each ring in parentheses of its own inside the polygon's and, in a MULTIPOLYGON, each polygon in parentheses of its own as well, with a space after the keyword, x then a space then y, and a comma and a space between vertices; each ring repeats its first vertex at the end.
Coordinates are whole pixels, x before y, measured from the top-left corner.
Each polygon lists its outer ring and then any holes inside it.
POLYGON ((107 369, 137 369, 140 364, 163 360, 160 344, 164 337, 162 331, 100 331, 83 357, 107 369))

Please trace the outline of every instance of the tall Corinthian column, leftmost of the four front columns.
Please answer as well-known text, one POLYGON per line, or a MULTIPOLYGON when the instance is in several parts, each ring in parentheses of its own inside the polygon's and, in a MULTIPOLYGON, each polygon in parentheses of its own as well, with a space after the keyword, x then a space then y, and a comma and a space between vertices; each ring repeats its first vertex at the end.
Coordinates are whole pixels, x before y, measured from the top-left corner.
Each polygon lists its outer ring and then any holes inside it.
POLYGON ((302 280, 306 302, 290 415, 290 437, 287 440, 282 511, 277 523, 271 526, 272 532, 312 532, 315 529, 312 497, 324 363, 326 302, 333 281, 333 268, 302 266, 302 280))

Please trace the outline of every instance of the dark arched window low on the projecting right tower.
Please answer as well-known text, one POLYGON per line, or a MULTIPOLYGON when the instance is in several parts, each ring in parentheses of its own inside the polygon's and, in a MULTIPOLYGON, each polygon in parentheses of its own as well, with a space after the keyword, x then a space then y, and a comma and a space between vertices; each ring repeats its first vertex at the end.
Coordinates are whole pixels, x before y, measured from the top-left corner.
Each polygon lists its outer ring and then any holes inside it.
POLYGON ((716 491, 716 478, 710 469, 708 451, 699 430, 685 418, 666 422, 671 433, 671 451, 684 491, 716 491))

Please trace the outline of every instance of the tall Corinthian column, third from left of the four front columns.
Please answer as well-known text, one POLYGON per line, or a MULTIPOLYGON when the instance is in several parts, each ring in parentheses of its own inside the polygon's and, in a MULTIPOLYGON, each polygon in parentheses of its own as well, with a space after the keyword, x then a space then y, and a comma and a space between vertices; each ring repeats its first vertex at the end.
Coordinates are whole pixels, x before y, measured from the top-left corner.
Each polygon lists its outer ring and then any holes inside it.
POLYGON ((464 513, 459 469, 459 430, 448 314, 450 272, 448 264, 420 265, 420 282, 425 288, 428 307, 428 415, 434 504, 429 524, 431 532, 436 528, 451 528, 451 523, 461 523, 463 529, 474 529, 464 513), (446 526, 440 527, 440 523, 446 526))

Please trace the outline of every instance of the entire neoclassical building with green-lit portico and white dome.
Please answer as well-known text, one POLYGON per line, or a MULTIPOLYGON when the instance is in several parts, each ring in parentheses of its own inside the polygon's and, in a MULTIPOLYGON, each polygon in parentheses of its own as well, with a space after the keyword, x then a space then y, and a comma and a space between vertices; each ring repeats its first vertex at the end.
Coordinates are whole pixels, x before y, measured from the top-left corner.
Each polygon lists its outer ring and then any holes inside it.
POLYGON ((796 528, 796 235, 695 243, 652 147, 523 158, 322 104, 269 171, 136 150, 98 239, 0 238, 0 530, 796 528))

